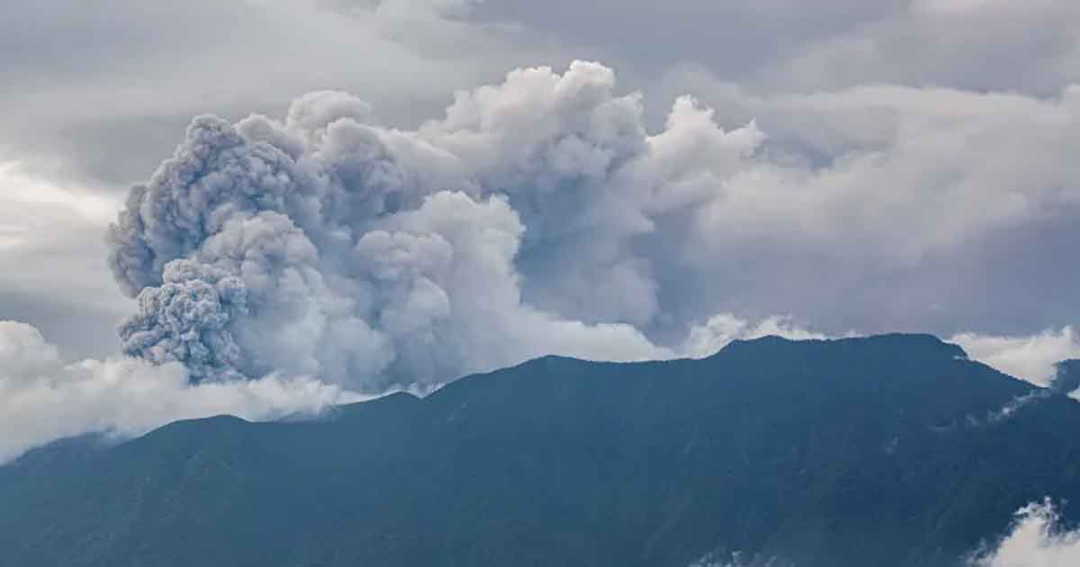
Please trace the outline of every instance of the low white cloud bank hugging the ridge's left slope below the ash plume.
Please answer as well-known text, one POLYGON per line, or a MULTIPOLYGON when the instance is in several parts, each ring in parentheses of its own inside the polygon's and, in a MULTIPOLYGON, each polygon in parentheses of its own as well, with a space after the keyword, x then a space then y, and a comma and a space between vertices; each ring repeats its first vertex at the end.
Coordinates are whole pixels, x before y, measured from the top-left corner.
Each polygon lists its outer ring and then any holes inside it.
POLYGON ((69 364, 37 328, 0 321, 0 464, 83 433, 126 437, 177 419, 219 414, 269 419, 359 400, 313 378, 193 386, 178 363, 113 357, 69 364))

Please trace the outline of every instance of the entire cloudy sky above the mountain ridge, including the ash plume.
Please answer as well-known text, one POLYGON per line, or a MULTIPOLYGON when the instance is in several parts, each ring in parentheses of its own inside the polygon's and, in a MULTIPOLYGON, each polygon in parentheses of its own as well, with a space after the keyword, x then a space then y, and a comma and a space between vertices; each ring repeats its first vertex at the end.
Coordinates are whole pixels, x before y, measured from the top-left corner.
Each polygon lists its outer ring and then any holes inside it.
POLYGON ((0 463, 764 335, 928 332, 1047 386, 1080 357, 1077 29, 1072 0, 0 2, 0 463))

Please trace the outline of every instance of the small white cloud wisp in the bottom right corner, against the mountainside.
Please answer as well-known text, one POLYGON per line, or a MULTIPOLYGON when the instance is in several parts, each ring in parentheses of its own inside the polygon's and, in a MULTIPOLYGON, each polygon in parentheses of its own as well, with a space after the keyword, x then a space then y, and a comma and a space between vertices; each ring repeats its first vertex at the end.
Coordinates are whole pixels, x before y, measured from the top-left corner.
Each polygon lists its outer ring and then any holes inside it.
POLYGON ((971 567, 1074 567, 1080 565, 1080 531, 1062 531, 1061 516, 1047 500, 1016 512, 1016 523, 990 552, 971 567))

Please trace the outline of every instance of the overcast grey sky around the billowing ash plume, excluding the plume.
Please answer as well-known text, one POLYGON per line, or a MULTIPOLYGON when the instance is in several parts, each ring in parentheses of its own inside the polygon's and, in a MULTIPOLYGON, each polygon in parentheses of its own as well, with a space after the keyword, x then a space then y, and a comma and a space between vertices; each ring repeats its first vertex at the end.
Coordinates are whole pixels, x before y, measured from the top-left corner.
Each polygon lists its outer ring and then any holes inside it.
POLYGON ((1062 329, 1080 315, 1078 26, 1067 0, 3 2, 0 320, 69 359, 117 352, 135 307, 103 234, 193 116, 283 118, 332 89, 417 129, 456 91, 585 59, 615 96, 642 93, 650 134, 692 95, 760 131, 747 151, 767 166, 725 173, 700 233, 645 245, 707 265, 653 273, 658 313, 582 308, 529 271, 544 251, 527 237, 526 303, 665 346, 717 313, 832 335, 1062 329))

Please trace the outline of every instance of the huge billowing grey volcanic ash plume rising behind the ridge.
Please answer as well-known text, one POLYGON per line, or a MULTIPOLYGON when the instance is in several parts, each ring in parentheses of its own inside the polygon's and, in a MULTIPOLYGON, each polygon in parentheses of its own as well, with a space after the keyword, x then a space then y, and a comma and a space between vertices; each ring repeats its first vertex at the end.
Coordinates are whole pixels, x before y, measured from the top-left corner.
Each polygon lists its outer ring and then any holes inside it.
POLYGON ((197 118, 110 229, 139 305, 123 351, 362 391, 552 352, 671 356, 638 330, 676 261, 663 243, 761 136, 688 98, 649 135, 613 87, 597 64, 516 70, 415 131, 337 92, 284 121, 197 118))

